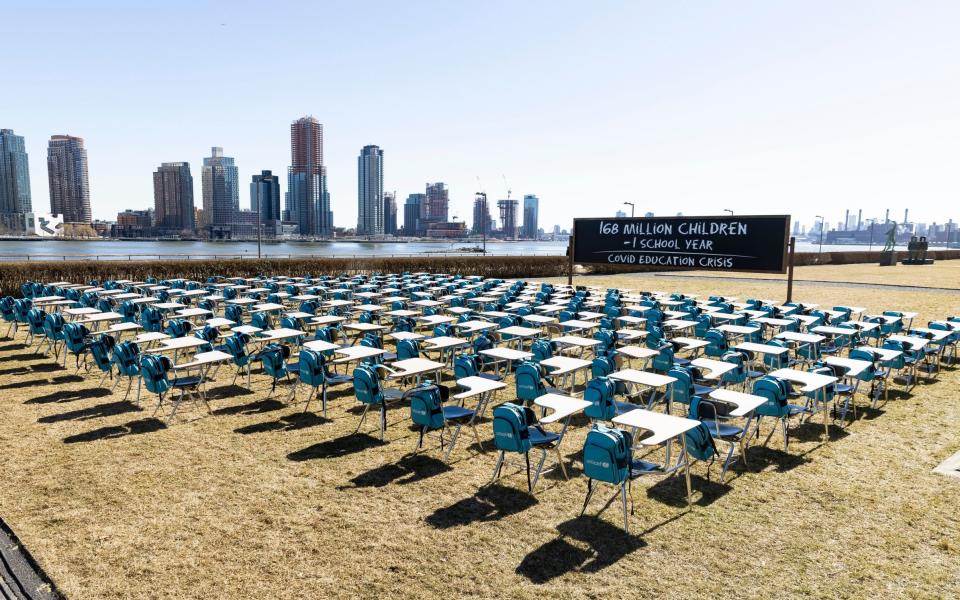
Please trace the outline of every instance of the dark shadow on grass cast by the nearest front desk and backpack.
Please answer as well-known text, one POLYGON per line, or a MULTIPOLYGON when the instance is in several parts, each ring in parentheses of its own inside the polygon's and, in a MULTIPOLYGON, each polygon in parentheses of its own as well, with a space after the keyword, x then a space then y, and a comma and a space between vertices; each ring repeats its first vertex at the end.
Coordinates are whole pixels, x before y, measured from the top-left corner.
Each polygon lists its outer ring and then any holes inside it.
POLYGON ((557 526, 558 537, 524 556, 516 573, 536 584, 570 572, 597 573, 646 546, 642 536, 661 525, 632 536, 599 517, 577 517, 557 526))

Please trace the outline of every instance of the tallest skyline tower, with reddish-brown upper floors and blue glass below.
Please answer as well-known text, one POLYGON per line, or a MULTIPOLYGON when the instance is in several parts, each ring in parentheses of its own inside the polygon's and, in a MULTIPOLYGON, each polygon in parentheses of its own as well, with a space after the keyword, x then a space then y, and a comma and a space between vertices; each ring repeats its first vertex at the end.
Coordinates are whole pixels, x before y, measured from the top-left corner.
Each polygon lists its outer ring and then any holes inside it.
POLYGON ((290 125, 290 168, 287 171, 287 212, 301 236, 333 234, 333 212, 323 164, 323 125, 313 117, 290 125))

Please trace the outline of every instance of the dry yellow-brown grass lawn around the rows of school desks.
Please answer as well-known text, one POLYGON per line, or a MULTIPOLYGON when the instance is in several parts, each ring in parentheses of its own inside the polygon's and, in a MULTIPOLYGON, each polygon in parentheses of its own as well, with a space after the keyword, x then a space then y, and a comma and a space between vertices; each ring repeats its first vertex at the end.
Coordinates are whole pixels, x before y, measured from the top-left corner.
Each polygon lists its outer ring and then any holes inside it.
MULTIPOLYGON (((960 287, 958 266, 878 277, 960 287)), ((867 270, 802 271, 850 281, 873 277, 867 270)), ((781 282, 576 282, 785 294, 781 282)), ((802 284, 795 298, 916 310, 923 323, 960 313, 960 293, 802 284)), ((585 419, 562 447, 571 480, 550 473, 530 496, 516 468, 487 487, 489 421, 480 427, 486 453, 465 432, 444 464, 435 437, 411 456, 407 409, 389 412, 381 445, 375 434, 353 435, 358 403, 347 388, 331 395, 327 421, 318 403, 303 414, 279 402, 286 388, 268 399, 263 375, 252 393, 228 387, 225 368, 211 388, 213 415, 187 406, 164 426, 151 418, 152 396, 141 410, 123 400, 123 386, 97 389, 98 374, 75 376, 22 340, 0 340, 0 515, 68 598, 960 595, 960 479, 931 472, 960 450, 955 368, 862 410, 829 443, 818 418, 796 426, 789 452, 775 437, 726 483, 719 465, 708 480, 696 464, 690 511, 682 479, 634 482, 627 537, 617 504, 595 516, 612 488, 577 517, 585 419)), ((508 390, 497 401, 512 398, 508 390)), ((368 419, 365 429, 375 427, 368 419)))

